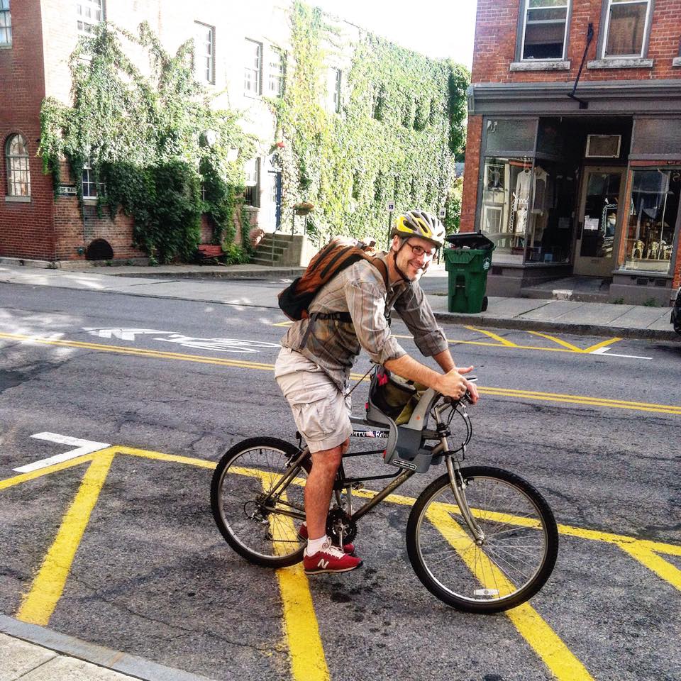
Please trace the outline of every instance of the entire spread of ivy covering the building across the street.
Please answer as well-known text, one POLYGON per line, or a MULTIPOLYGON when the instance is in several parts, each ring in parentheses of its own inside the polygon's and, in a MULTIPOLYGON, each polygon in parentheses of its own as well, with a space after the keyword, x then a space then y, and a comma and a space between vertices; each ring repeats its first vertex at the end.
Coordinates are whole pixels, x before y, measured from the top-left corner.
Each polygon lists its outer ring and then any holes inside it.
MULTIPOLYGON (((55 187, 65 158, 82 206, 79 178, 89 159, 96 181, 106 187, 98 199, 99 215, 131 216, 133 245, 152 262, 192 258, 202 214, 213 229, 212 240, 231 260, 248 257, 248 238, 242 240, 246 253, 233 241, 235 224, 248 224, 243 166, 257 149, 261 156, 276 149, 281 161, 284 229, 292 224, 294 206, 304 201, 314 204, 308 226, 320 238, 347 234, 382 242, 387 201, 394 201, 398 212, 444 207, 448 230, 457 228, 460 187, 453 168, 463 146, 467 71, 300 1, 289 6, 288 21, 281 34, 288 38, 277 45, 250 33, 258 25, 255 18, 243 29, 230 25, 228 48, 219 40, 227 29, 217 24, 216 59, 224 59, 228 49, 234 63, 222 76, 226 84, 216 83, 210 96, 196 82, 192 40, 171 55, 145 23, 135 33, 99 26, 71 55, 72 104, 43 101, 40 154, 55 187), (266 51, 282 50, 283 96, 243 98, 244 65, 237 63, 240 50, 233 46, 244 38, 262 40, 266 51), (140 52, 148 69, 131 60, 140 52), (342 73, 337 112, 327 104, 331 66, 342 73), (232 99, 250 110, 216 109, 216 101, 232 99), (267 106, 275 122, 258 129, 256 140, 241 126, 262 121, 255 113, 269 117, 267 106), (281 142, 283 148, 276 144, 281 142)), ((267 82, 267 72, 261 75, 267 82)), ((271 168, 266 158, 262 167, 271 168)), ((262 174, 271 181, 269 172, 262 174)), ((271 187, 265 189, 262 201, 271 201, 271 187)), ((262 210, 262 215, 274 212, 262 210)), ((273 227, 265 222, 260 226, 273 227)))

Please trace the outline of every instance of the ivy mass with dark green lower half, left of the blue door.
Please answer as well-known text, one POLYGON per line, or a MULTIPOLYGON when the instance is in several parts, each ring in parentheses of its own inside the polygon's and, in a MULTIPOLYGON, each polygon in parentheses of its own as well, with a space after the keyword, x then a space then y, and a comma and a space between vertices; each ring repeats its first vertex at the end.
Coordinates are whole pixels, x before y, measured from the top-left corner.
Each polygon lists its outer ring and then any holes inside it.
POLYGON ((233 241, 243 160, 253 155, 238 114, 211 108, 196 82, 193 47, 189 40, 170 55, 146 24, 136 35, 101 24, 71 55, 72 106, 48 97, 41 109, 40 154, 55 188, 65 157, 82 203, 78 179, 89 162, 100 213, 131 216, 135 247, 152 262, 191 259, 201 214, 214 243, 233 241), (145 50, 148 72, 128 58, 126 43, 145 50), (238 159, 228 160, 231 149, 238 159))

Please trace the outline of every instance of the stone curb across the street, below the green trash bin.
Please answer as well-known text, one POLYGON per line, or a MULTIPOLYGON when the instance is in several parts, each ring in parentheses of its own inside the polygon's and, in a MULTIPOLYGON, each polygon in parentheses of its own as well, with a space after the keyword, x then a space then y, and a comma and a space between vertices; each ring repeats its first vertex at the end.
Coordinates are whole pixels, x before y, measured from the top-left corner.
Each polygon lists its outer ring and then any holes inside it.
POLYGON ((456 312, 436 312, 436 319, 460 324, 490 326, 492 328, 530 329, 531 331, 560 331, 575 336, 619 336, 638 341, 677 341, 681 336, 670 328, 629 328, 626 326, 605 326, 604 324, 574 324, 560 321, 538 321, 536 319, 506 319, 499 317, 477 316, 456 312))

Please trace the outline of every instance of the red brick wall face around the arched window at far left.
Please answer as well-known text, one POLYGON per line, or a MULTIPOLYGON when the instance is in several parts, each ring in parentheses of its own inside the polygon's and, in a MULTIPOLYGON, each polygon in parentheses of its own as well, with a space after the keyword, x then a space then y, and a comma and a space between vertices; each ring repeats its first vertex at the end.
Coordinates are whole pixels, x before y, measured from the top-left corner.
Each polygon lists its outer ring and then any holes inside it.
POLYGON ((45 95, 40 0, 11 4, 12 46, 0 49, 0 255, 52 260, 52 182, 35 154, 40 138, 40 102, 45 95), (21 133, 28 144, 31 202, 5 200, 5 143, 21 133))

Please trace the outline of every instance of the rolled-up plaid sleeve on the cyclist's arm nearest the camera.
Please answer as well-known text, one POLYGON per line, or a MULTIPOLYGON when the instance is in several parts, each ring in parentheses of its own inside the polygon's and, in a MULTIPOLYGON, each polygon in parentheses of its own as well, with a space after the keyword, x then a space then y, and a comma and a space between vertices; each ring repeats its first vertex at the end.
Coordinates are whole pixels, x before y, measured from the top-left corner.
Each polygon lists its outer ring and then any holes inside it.
POLYGON ((406 355, 390 333, 385 319, 385 298, 379 284, 348 279, 345 299, 357 339, 373 362, 383 365, 406 355))

